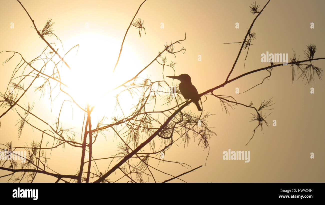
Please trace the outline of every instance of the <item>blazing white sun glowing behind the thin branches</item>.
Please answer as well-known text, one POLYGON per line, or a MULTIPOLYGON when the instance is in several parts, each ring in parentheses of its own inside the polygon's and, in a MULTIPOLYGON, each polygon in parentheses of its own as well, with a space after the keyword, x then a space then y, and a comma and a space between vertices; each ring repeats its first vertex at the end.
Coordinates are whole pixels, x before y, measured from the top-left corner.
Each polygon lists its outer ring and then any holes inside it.
MULTIPOLYGON (((60 72, 61 81, 67 84, 64 88, 73 99, 85 107, 95 106, 93 114, 100 116, 115 115, 116 95, 121 89, 112 90, 135 75, 134 66, 141 65, 137 54, 127 45, 123 45, 118 67, 112 72, 120 51, 121 42, 95 33, 76 36, 71 41, 79 44, 79 48, 71 50, 64 58, 71 67, 60 72), (124 58, 125 59, 125 58, 124 58)), ((123 109, 130 110, 137 99, 123 96, 119 100, 123 109)))

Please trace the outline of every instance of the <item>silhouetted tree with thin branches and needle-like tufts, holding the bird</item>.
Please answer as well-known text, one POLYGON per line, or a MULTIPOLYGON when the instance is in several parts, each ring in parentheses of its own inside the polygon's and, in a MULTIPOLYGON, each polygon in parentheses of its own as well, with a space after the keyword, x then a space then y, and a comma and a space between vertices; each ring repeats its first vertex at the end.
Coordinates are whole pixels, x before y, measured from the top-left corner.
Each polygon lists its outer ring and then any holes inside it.
MULTIPOLYGON (((161 65, 162 76, 164 76, 163 72, 165 67, 169 67, 175 72, 176 63, 173 61, 168 61, 167 55, 176 57, 176 54, 184 53, 186 51, 186 49, 181 46, 181 43, 186 40, 185 33, 184 39, 164 45, 163 50, 159 52, 158 55, 152 59, 152 61, 149 62, 146 67, 139 70, 134 77, 116 85, 114 90, 120 90, 119 94, 115 98, 116 109, 121 110, 123 116, 115 116, 111 119, 103 116, 102 120, 99 121, 96 126, 91 124, 92 111, 96 108, 93 105, 83 105, 77 102, 73 98, 73 94, 66 91, 67 85, 61 80, 62 76, 60 75, 60 72, 63 69, 73 69, 70 68, 69 62, 66 62, 64 57, 73 48, 78 47, 78 45, 72 47, 65 55, 59 54, 59 47, 54 43, 49 43, 45 39, 48 36, 55 35, 53 30, 54 23, 52 22, 52 19, 48 19, 43 29, 39 30, 28 11, 24 8, 19 0, 17 1, 32 21, 33 28, 35 29, 37 35, 46 43, 47 46, 40 55, 32 60, 25 59, 19 52, 16 51, 1 52, 2 54, 9 53, 11 55, 11 57, 5 60, 4 63, 11 60, 15 55, 18 55, 21 60, 12 71, 12 76, 9 79, 6 91, 0 95, 1 107, 5 108, 4 112, 0 113, 0 120, 8 112, 16 112, 17 117, 19 117, 18 137, 20 137, 23 128, 26 125, 31 126, 34 131, 36 130, 39 132, 39 136, 41 137, 39 143, 37 143, 37 141, 32 141, 30 146, 25 147, 15 147, 11 144, 11 142, 0 144, 0 151, 7 150, 6 154, 13 153, 14 155, 23 157, 20 156, 19 153, 15 152, 15 150, 24 148, 27 151, 27 155, 25 157, 26 161, 21 162, 20 164, 10 159, 3 160, 3 162, 0 161, 0 169, 8 172, 1 177, 10 176, 8 181, 21 181, 27 177, 29 182, 33 182, 37 173, 56 177, 56 182, 59 182, 60 180, 64 182, 119 182, 121 179, 126 178, 128 182, 158 182, 163 180, 165 180, 163 182, 167 182, 178 178, 183 174, 198 169, 201 166, 191 168, 185 163, 164 160, 162 156, 170 147, 172 147, 172 145, 175 144, 175 142, 182 141, 185 146, 192 137, 199 138, 199 145, 203 146, 204 149, 209 149, 209 139, 211 136, 215 135, 215 133, 207 124, 207 118, 210 116, 210 114, 204 111, 204 101, 207 100, 206 96, 208 95, 218 98, 226 113, 228 113, 229 108, 233 109, 234 105, 241 105, 249 109, 253 109, 253 117, 251 121, 256 121, 257 123, 256 128, 253 130, 253 136, 256 129, 263 129, 264 125, 268 125, 266 122, 266 117, 270 113, 262 114, 262 111, 272 109, 271 106, 273 105, 273 102, 271 99, 264 100, 259 106, 255 107, 253 106, 253 103, 240 103, 234 97, 217 95, 214 92, 219 88, 224 87, 228 83, 255 72, 266 70, 269 72, 269 75, 266 78, 269 78, 274 68, 284 66, 283 63, 273 63, 271 59, 271 63, 267 67, 244 72, 239 76, 230 77, 243 50, 246 51, 246 61, 249 48, 256 36, 256 33, 252 32, 253 24, 262 14, 269 1, 262 8, 255 3, 250 6, 252 14, 256 16, 253 19, 253 22, 243 41, 236 42, 240 44, 240 49, 234 64, 223 83, 199 94, 201 98, 200 105, 203 109, 199 116, 196 116, 192 112, 183 111, 183 109, 190 104, 192 100, 182 102, 183 98, 177 85, 169 85, 163 79, 163 77, 162 80, 159 81, 151 81, 149 78, 141 80, 139 78, 140 74, 154 62, 161 65), (54 58, 55 56, 59 57, 59 60, 55 60, 57 59, 54 58), (42 62, 41 66, 39 65, 39 62, 42 62), (59 63, 64 63, 67 68, 64 65, 59 66, 59 63), (43 82, 41 84, 37 84, 40 83, 40 81, 36 79, 43 79, 43 82), (41 96, 49 95, 51 103, 53 102, 52 93, 54 92, 57 92, 59 93, 58 95, 65 97, 65 99, 62 101, 62 106, 57 115, 55 124, 49 124, 43 119, 43 116, 33 114, 32 109, 34 104, 32 102, 28 102, 27 105, 23 105, 20 102, 22 97, 27 95, 27 91, 31 90, 31 88, 35 86, 36 89, 33 93, 38 95, 37 91, 40 91, 41 96), (168 90, 163 89, 166 87, 168 90), (138 103, 131 111, 123 110, 123 107, 120 106, 119 97, 124 93, 128 93, 128 95, 131 95, 138 100, 138 103), (85 113, 85 119, 82 125, 83 137, 81 140, 76 139, 73 129, 65 128, 65 126, 62 125, 60 115, 62 114, 61 110, 63 106, 65 106, 65 102, 70 102, 73 104, 73 107, 77 108, 77 112, 85 113), (46 128, 44 128, 44 126, 46 126, 46 128), (105 136, 104 131, 112 131, 110 133, 114 133, 114 136, 117 137, 119 140, 117 146, 118 151, 113 156, 97 159, 96 156, 93 155, 92 147, 96 143, 97 137, 102 137, 102 135, 105 136), (49 146, 47 143, 45 143, 45 141, 49 141, 48 139, 52 139, 53 145, 49 146), (80 167, 78 167, 79 170, 75 174, 59 174, 55 171, 55 168, 50 168, 47 166, 47 161, 50 160, 48 157, 48 151, 55 147, 64 148, 64 146, 76 147, 76 149, 74 149, 76 152, 81 151, 80 167), (96 161, 98 160, 107 161, 107 170, 98 169, 96 164, 96 161), (183 173, 181 172, 179 175, 174 176, 161 171, 157 166, 151 165, 150 162, 152 160, 175 163, 186 169, 183 173), (152 173, 152 170, 165 174, 165 179, 156 179, 152 173), (16 173, 22 174, 19 176, 14 176, 16 173)), ((143 1, 139 6, 125 32, 114 70, 116 69, 120 56, 123 53, 123 44, 129 29, 131 27, 138 29, 139 37, 141 37, 142 32, 146 32, 144 22, 140 18, 136 19, 139 9, 145 2, 146 0, 143 1)), ((59 40, 58 37, 57 39, 59 40)), ((312 83, 316 76, 321 78, 322 69, 313 65, 313 61, 325 58, 314 58, 315 52, 316 46, 311 44, 308 45, 307 50, 305 50, 305 60, 297 59, 294 53, 293 57, 291 58, 291 62, 288 62, 288 65, 290 65, 292 68, 292 81, 295 79, 295 75, 297 73, 299 73, 299 77, 302 77, 306 83, 312 83)), ((263 79, 262 83, 266 78, 263 79)), ((105 88, 102 89, 103 92, 110 92, 109 90, 105 90, 105 88)), ((85 97, 86 95, 87 94, 85 94, 85 97)))

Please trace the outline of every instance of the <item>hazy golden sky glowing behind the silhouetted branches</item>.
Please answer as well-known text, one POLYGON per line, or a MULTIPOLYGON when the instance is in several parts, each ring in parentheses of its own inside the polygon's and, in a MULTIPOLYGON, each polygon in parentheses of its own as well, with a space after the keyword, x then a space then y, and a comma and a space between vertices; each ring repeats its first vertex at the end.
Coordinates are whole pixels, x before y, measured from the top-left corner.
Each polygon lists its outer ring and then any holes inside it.
MULTIPOLYGON (((32 22, 26 12, 17 1, 0 0, 0 50, 17 51, 28 61, 37 57, 46 46, 31 27, 32 22), (14 28, 11 28, 11 25, 14 28)), ((255 1, 254 1, 255 2, 255 1)), ((266 0, 256 1, 263 7, 266 0)), ((85 93, 96 96, 98 93, 109 91, 118 83, 133 77, 139 70, 143 69, 164 49, 164 45, 184 39, 181 45, 186 52, 173 55, 166 54, 168 61, 177 62, 176 75, 187 73, 192 78, 192 83, 199 93, 223 83, 237 57, 240 49, 239 44, 223 44, 240 42, 243 40, 247 29, 251 25, 255 15, 250 13, 249 6, 253 1, 191 1, 191 0, 148 0, 140 8, 136 19, 144 20, 146 34, 131 27, 124 45, 119 65, 114 75, 111 71, 116 63, 121 42, 125 31, 133 18, 138 6, 142 1, 40 1, 21 0, 26 10, 34 19, 39 30, 43 28, 47 19, 55 22, 54 33, 61 39, 61 43, 54 37, 46 37, 47 41, 55 42, 55 48, 59 48, 61 54, 65 54, 74 45, 79 44, 78 54, 73 49, 65 58, 71 65, 72 70, 62 71, 65 74, 65 82, 74 87, 78 100, 83 101, 85 93), (163 28, 161 25, 163 23, 163 28), (239 29, 236 29, 239 23, 239 29), (198 56, 201 55, 201 61, 198 56), (70 60, 70 61, 69 61, 70 60), (91 77, 91 83, 85 84, 87 78, 91 77), (99 83, 100 82, 100 83, 99 83)), ((293 50, 300 60, 305 59, 304 49, 306 45, 315 44, 317 51, 314 58, 325 57, 324 43, 324 8, 325 2, 319 1, 280 1, 271 0, 262 14, 255 21, 252 32, 256 32, 256 40, 252 42, 243 68, 245 51, 242 52, 238 63, 231 74, 231 78, 244 72, 256 70, 269 66, 269 63, 261 62, 261 54, 285 53, 288 54, 289 62, 293 50), (311 22, 314 29, 310 28, 311 22)), ((0 54, 1 63, 10 55, 0 54)), ((6 91, 8 81, 14 67, 19 63, 16 56, 11 61, 0 65, 0 92, 6 91)), ((325 69, 325 60, 314 61, 313 64, 325 69)), ((164 76, 173 75, 170 68, 164 68, 164 76)), ((228 95, 234 97, 237 102, 250 104, 258 107, 262 100, 272 98, 275 103, 272 111, 263 111, 268 115, 266 121, 271 125, 264 126, 264 133, 257 130, 253 139, 252 131, 257 126, 256 122, 249 122, 251 108, 234 106, 226 114, 221 109, 219 99, 209 95, 203 103, 203 109, 211 115, 208 118, 209 126, 217 136, 212 136, 210 153, 207 149, 197 146, 199 141, 191 139, 190 145, 177 143, 169 149, 164 156, 165 160, 184 162, 192 168, 203 165, 198 170, 188 173, 181 178, 187 182, 325 182, 324 172, 324 120, 323 102, 324 85, 323 80, 316 78, 311 85, 305 85, 301 79, 291 81, 291 67, 279 66, 274 68, 272 75, 263 84, 243 94, 236 94, 251 88, 262 82, 268 75, 267 71, 258 72, 227 84, 225 87, 214 91, 214 94, 228 95), (314 94, 310 93, 311 87, 314 94), (272 126, 273 121, 277 126, 272 126), (223 160, 223 152, 250 151, 250 161, 223 160), (314 153, 314 159, 310 153, 314 153), (205 165, 206 162, 206 165, 205 165)), ((162 66, 153 63, 140 77, 150 76, 152 81, 162 80, 162 66)), ((166 78, 165 78, 166 79, 166 78)), ((172 80, 166 79, 172 83, 172 80)), ((27 83, 26 83, 27 86, 27 83)), ((34 87, 33 89, 34 90, 34 87)), ((73 92, 73 91, 72 91, 73 92)), ((54 98, 55 96, 53 96, 54 98)), ((107 109, 94 109, 93 126, 97 123, 97 117, 105 113, 110 119, 114 110, 115 102, 112 96, 101 102, 100 105, 107 109), (110 109, 108 109, 110 108, 110 109)), ((44 114, 45 119, 52 124, 59 113, 62 99, 58 97, 51 103, 48 96, 39 99, 40 93, 32 91, 22 99, 21 105, 35 101, 34 113, 44 114)), ((94 97, 90 97, 94 99, 94 97)), ((205 98, 204 98, 205 99, 205 98)), ((2 100, 2 99, 0 99, 2 100)), ((126 110, 132 108, 133 102, 124 98, 123 106, 126 110)), ((62 119, 65 127, 81 126, 84 113, 76 107, 67 104, 64 108, 62 119)), ((7 108, 0 108, 2 114, 7 108)), ((186 110, 192 110, 197 115, 200 113, 191 103, 186 110)), ((29 145, 32 140, 40 141, 41 132, 31 129, 28 125, 24 127, 21 137, 18 139, 17 115, 15 109, 11 110, 1 120, 0 143, 5 144, 12 141, 14 147, 29 145)), ((44 129, 45 126, 44 126, 44 129)), ((77 128, 76 128, 77 129, 77 128)), ((81 129, 76 139, 80 141, 81 129)), ((94 149, 96 158, 113 155, 116 148, 116 138, 113 140, 112 132, 106 133, 104 137, 98 137, 98 144, 94 149)), ((51 146, 53 140, 49 140, 51 146)), ((3 148, 3 147, 1 147, 3 148)), ((47 157, 48 166, 61 174, 75 174, 80 166, 80 148, 66 146, 65 149, 58 147, 52 150, 47 157)), ((159 156, 157 156, 159 157, 159 156)), ((108 168, 110 161, 98 162, 102 172, 108 168)), ((157 165, 158 161, 152 161, 157 165)), ((85 166, 86 167, 86 166, 85 166)), ((188 171, 178 164, 160 162, 158 168, 177 175, 188 171)), ((8 172, 0 171, 0 175, 8 172)), ((160 181, 170 178, 169 176, 156 173, 160 181)), ((19 174, 16 174, 19 176, 19 174)), ((6 182, 8 177, 0 178, 0 182, 6 182)), ((53 177, 37 175, 35 182, 55 182, 53 177)), ((173 182, 181 182, 173 180, 173 182)))

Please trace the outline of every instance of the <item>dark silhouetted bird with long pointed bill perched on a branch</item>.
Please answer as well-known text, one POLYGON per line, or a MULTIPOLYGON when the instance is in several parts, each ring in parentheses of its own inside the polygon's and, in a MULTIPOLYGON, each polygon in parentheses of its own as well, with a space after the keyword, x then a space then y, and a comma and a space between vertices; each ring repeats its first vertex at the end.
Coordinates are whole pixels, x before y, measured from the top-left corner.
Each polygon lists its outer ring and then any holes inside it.
POLYGON ((199 111, 202 111, 199 104, 199 93, 195 86, 191 82, 191 77, 188 74, 181 74, 179 76, 166 76, 168 78, 173 78, 179 80, 179 91, 185 99, 192 99, 199 111))

